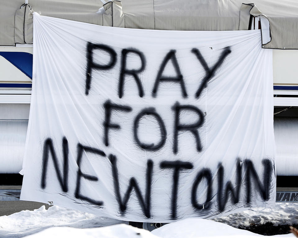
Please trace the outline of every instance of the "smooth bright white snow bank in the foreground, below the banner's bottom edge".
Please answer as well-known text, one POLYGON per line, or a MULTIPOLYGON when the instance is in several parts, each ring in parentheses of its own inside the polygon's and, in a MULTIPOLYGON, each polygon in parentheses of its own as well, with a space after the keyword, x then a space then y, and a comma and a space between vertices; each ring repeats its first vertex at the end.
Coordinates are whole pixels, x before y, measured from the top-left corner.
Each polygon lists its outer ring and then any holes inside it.
MULTIPOLYGON (((262 235, 240 230, 229 225, 200 218, 189 218, 167 224, 154 231, 145 231, 126 224, 109 227, 78 229, 70 227, 52 227, 26 238, 204 238, 231 237, 255 238, 262 235)), ((288 238, 292 234, 278 235, 274 238, 288 238)), ((264 237, 264 236, 262 236, 264 237)))

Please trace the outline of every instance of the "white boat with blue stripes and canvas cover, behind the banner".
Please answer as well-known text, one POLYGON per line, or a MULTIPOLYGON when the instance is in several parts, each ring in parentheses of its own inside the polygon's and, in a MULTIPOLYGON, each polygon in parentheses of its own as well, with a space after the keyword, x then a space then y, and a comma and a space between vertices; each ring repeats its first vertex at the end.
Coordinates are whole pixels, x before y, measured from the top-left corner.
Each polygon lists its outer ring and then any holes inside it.
MULTIPOLYGON (((32 11, 37 11, 42 15, 126 28, 261 29, 262 47, 273 48, 277 200, 291 201, 298 188, 298 2, 258 0, 254 3, 242 4, 239 0, 102 0, 102 4, 95 0, 34 0, 29 4, 28 1, 2 1, 5 14, 0 15, 0 185, 21 185, 22 181, 18 173, 22 169, 32 85, 32 11), (291 193, 290 199, 284 196, 285 191, 291 193)), ((18 199, 19 187, 13 188, 10 187, 10 195, 5 195, 8 188, 0 187, 0 200, 18 199)))

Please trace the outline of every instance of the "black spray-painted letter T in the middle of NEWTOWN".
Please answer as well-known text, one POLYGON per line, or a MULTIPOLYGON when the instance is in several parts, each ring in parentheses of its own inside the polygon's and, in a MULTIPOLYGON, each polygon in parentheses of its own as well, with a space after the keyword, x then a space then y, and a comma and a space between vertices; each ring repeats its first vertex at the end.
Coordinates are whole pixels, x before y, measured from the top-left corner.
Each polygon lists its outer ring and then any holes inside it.
POLYGON ((193 168, 192 163, 183 161, 162 161, 160 163, 162 169, 174 169, 173 173, 173 192, 172 192, 172 211, 171 218, 177 218, 177 194, 178 194, 178 182, 179 172, 181 170, 190 170, 193 168))

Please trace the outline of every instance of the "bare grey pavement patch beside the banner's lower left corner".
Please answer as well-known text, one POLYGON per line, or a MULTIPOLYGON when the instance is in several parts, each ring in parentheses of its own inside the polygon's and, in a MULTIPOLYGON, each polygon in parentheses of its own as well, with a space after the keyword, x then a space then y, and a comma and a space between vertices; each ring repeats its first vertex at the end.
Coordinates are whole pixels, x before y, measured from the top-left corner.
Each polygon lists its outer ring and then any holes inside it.
POLYGON ((41 202, 30 202, 30 201, 0 201, 0 216, 8 216, 22 210, 31 210, 40 208, 45 205, 46 209, 49 205, 41 202))

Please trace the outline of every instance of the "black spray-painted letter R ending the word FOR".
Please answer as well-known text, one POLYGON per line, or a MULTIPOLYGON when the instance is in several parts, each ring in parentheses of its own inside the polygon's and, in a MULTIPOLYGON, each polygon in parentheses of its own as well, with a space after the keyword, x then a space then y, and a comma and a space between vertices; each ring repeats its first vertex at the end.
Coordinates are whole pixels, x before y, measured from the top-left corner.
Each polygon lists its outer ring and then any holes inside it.
POLYGON ((201 152, 202 151, 201 140, 197 129, 203 125, 203 122, 204 122, 203 112, 199 108, 196 108, 195 106, 180 105, 178 102, 176 102, 176 104, 174 105, 173 110, 175 111, 173 152, 175 154, 178 152, 178 132, 185 131, 185 130, 190 131, 194 135, 196 139, 196 150, 198 152, 201 152), (182 110, 189 110, 189 111, 195 112, 199 116, 199 119, 192 124, 188 124, 188 125, 181 124, 180 111, 182 110))

